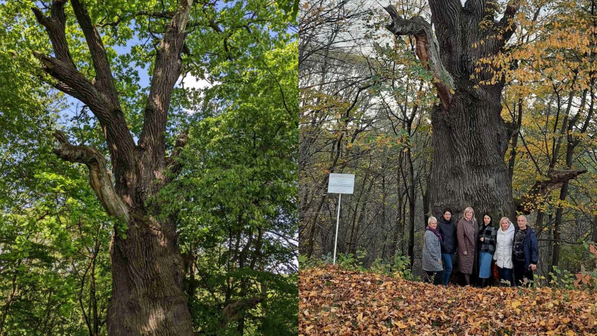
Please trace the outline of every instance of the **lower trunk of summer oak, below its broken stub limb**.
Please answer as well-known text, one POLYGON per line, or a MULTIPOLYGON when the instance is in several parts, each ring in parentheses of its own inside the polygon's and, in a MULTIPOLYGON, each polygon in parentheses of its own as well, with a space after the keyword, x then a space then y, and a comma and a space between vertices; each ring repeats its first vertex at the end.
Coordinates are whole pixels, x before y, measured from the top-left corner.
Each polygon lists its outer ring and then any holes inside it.
MULTIPOLYGON (((128 224, 127 239, 113 237, 110 336, 193 334, 182 290, 183 261, 173 222, 128 224)), ((139 218, 139 219, 137 219, 139 218)))

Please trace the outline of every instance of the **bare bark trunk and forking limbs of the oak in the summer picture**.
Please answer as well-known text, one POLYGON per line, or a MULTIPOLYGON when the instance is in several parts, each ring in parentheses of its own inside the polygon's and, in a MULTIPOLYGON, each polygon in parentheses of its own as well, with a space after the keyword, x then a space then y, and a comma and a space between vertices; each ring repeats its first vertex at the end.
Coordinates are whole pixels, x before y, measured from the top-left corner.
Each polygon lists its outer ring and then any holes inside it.
MULTIPOLYGON (((116 234, 110 243, 112 304, 107 314, 108 334, 190 336, 192 320, 181 287, 183 261, 176 242, 176 216, 156 219, 146 202, 169 182, 168 172, 180 170, 173 157, 179 150, 166 157, 164 132, 174 84, 181 72, 180 53, 192 0, 179 1, 158 46, 138 145, 127 127, 101 36, 84 5, 71 0, 96 77, 90 81, 76 69, 64 33, 66 2, 54 0, 49 15, 32 8, 54 50, 54 56, 35 56, 53 78, 48 83, 90 108, 109 149, 113 175, 99 151, 71 145, 60 131, 54 134, 60 143, 54 152, 64 160, 85 164, 91 187, 106 212, 128 226, 126 239, 114 228, 116 234)), ((184 146, 186 140, 186 133, 182 133, 176 147, 184 146)))

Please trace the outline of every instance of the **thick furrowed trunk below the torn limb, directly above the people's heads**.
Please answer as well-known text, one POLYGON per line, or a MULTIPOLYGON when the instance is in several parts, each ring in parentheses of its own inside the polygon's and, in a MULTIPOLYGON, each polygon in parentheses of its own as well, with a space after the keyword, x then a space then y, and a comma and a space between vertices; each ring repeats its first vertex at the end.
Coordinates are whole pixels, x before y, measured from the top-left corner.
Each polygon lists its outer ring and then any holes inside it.
POLYGON ((450 207, 459 218, 470 206, 477 216, 487 211, 513 218, 500 94, 500 90, 488 90, 477 99, 457 90, 448 111, 441 106, 433 111, 433 166, 428 185, 435 216, 450 207))

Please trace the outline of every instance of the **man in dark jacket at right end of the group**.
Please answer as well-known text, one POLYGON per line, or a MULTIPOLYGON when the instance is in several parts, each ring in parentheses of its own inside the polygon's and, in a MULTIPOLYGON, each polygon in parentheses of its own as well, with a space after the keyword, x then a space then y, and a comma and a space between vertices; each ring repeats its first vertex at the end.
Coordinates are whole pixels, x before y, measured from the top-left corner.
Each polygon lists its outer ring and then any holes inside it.
POLYGON ((512 262, 514 264, 514 281, 516 285, 525 283, 525 279, 533 281, 533 271, 537 270, 538 245, 533 228, 527 226, 527 217, 516 218, 518 228, 514 233, 512 244, 512 262))

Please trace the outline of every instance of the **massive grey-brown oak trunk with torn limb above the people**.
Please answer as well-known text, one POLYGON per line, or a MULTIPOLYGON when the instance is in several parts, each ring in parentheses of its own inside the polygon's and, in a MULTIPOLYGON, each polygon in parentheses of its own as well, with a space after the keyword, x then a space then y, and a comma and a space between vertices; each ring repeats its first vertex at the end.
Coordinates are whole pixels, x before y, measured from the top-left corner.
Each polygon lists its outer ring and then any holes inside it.
POLYGON ((491 85, 489 68, 476 73, 476 62, 499 53, 514 32, 518 1, 510 2, 497 21, 491 2, 429 0, 432 23, 422 17, 402 19, 396 9, 385 7, 392 18, 386 28, 394 35, 413 35, 416 54, 432 72, 441 101, 433 108, 433 165, 429 175, 429 203, 433 215, 451 207, 460 216, 464 207, 476 213, 515 214, 512 184, 504 154, 512 130, 501 118, 503 79, 491 85), (490 22, 481 28, 482 20, 490 22), (438 42, 439 41, 439 42, 438 42), (475 74, 477 79, 471 79, 475 74))

